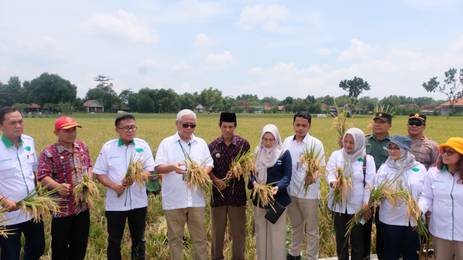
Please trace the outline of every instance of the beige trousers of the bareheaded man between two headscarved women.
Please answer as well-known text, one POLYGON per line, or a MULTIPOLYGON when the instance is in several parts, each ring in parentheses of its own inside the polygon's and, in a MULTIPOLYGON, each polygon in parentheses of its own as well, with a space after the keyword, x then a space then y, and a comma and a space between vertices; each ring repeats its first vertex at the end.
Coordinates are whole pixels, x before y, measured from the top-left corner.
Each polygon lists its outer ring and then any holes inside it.
POLYGON ((317 260, 319 256, 318 204, 319 199, 289 196, 288 217, 291 224, 291 249, 289 254, 299 256, 304 241, 304 223, 307 229, 307 260, 317 260))

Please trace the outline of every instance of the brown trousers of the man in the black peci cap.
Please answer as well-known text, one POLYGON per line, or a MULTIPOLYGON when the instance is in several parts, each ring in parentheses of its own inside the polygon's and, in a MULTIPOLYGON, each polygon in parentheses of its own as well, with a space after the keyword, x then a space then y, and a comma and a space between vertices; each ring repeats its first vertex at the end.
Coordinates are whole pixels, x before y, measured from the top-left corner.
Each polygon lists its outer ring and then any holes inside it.
POLYGON ((246 250, 246 207, 232 205, 211 207, 211 258, 212 260, 225 260, 224 239, 227 214, 233 239, 232 260, 244 260, 244 251, 246 250))

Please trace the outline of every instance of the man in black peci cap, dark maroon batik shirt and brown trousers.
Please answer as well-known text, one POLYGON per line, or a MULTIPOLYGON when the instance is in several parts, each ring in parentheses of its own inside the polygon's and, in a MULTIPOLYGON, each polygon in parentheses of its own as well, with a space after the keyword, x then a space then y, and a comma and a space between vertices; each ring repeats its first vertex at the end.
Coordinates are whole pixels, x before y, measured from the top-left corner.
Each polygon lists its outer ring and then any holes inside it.
POLYGON ((233 238, 232 260, 244 260, 246 249, 246 186, 244 178, 234 179, 234 175, 229 171, 240 150, 241 153, 245 153, 250 146, 248 141, 234 134, 236 126, 235 113, 221 113, 219 127, 222 136, 208 145, 214 160, 214 168, 209 176, 217 187, 213 187, 211 202, 213 260, 225 259, 223 247, 227 214, 233 238), (228 185, 224 183, 225 178, 231 179, 228 185))

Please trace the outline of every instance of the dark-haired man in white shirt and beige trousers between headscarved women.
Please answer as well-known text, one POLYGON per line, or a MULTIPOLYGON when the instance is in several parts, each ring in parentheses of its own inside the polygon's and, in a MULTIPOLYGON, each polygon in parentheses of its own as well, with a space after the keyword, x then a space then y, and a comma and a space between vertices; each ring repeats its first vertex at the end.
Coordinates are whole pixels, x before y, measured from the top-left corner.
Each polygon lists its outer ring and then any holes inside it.
POLYGON ((312 117, 306 111, 297 112, 294 115, 294 136, 288 136, 283 146, 291 153, 293 160, 293 175, 287 187, 291 204, 288 205, 288 217, 291 223, 291 249, 286 256, 287 260, 300 260, 302 241, 304 240, 304 223, 307 228, 307 260, 316 260, 319 255, 319 229, 318 229, 318 204, 320 199, 320 185, 317 181, 320 172, 316 171, 312 176, 305 177, 306 166, 299 167, 300 156, 304 149, 313 146, 315 151, 320 151, 321 165, 325 166, 325 149, 317 138, 310 136, 308 131, 312 127, 312 117), (301 187, 303 183, 309 185, 309 191, 304 196, 301 187), (299 191, 300 189, 300 191, 299 191))

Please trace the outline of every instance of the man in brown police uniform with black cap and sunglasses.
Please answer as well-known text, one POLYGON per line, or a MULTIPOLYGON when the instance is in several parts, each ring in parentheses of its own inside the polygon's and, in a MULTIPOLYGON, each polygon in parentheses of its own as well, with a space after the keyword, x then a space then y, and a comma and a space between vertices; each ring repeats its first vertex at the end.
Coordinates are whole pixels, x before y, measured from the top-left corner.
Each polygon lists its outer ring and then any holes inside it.
POLYGON ((408 118, 408 137, 412 139, 412 154, 416 161, 422 163, 426 170, 437 161, 437 142, 423 135, 426 129, 426 116, 421 113, 411 113, 408 118))

